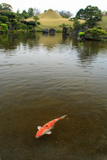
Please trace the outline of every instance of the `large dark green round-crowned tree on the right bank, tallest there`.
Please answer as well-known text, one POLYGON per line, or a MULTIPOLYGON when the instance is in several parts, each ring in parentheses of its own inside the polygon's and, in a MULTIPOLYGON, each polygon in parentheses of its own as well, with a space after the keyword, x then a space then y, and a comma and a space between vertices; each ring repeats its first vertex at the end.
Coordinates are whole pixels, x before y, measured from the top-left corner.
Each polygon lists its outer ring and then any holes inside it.
POLYGON ((97 21, 102 19, 101 10, 96 6, 87 6, 84 10, 80 9, 76 17, 80 19, 84 19, 88 25, 88 27, 94 27, 97 21))

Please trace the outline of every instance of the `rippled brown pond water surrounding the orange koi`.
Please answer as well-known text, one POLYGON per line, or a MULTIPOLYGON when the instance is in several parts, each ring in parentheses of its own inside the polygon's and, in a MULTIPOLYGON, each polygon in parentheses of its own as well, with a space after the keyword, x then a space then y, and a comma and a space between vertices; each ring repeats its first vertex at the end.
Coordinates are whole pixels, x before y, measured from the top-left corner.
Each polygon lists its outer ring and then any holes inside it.
POLYGON ((0 36, 0 158, 107 160, 107 42, 0 36))

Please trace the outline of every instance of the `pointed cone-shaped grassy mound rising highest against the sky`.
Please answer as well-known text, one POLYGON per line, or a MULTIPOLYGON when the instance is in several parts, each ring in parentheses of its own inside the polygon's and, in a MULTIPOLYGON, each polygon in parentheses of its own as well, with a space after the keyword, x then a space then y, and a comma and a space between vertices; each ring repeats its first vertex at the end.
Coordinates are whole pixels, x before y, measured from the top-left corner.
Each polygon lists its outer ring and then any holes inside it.
POLYGON ((38 15, 40 19, 61 19, 62 17, 57 14, 54 10, 49 9, 46 12, 38 15))

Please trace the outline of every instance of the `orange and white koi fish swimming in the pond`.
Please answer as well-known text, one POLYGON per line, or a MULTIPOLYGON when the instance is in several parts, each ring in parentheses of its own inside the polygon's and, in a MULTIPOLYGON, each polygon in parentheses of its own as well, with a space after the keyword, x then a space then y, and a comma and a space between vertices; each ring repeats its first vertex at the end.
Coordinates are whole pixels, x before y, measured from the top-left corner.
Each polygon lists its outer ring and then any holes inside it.
POLYGON ((44 134, 51 134, 52 131, 51 129, 53 129, 54 124, 59 121, 60 119, 64 119, 67 115, 64 115, 62 117, 56 118, 48 123, 46 123, 44 126, 38 126, 37 129, 37 133, 36 133, 36 138, 39 138, 41 136, 43 136, 44 134))

